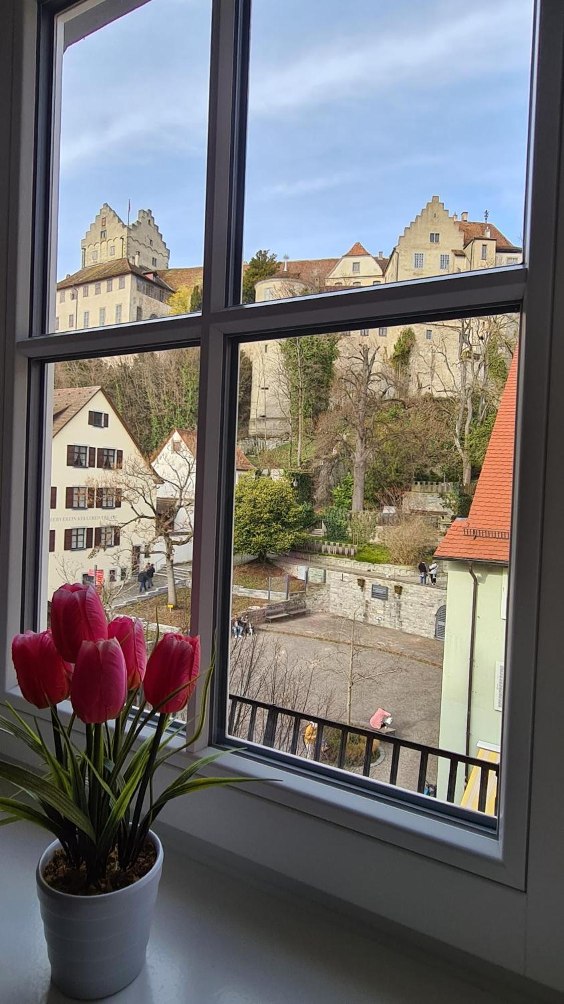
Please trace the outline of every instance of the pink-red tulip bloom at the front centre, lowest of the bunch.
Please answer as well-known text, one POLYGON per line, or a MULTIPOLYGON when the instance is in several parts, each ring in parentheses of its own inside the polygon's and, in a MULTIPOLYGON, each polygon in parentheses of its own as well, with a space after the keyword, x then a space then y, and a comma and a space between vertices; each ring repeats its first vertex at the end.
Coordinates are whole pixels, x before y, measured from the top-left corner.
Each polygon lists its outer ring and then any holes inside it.
POLYGON ((70 700, 82 722, 117 718, 127 696, 127 671, 116 639, 82 642, 74 664, 70 700))

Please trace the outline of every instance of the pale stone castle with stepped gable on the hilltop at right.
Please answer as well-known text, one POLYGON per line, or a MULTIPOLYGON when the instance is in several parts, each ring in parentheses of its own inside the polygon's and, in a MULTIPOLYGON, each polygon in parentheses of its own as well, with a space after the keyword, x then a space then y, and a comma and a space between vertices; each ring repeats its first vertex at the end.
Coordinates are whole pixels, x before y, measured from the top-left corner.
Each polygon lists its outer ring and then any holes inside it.
MULTIPOLYGON (((356 242, 340 258, 284 261, 275 275, 256 285, 257 301, 327 292, 336 288, 379 285, 416 278, 515 265, 522 260, 516 247, 493 224, 470 221, 468 213, 459 219, 451 215, 438 196, 424 207, 397 240, 388 257, 381 251, 370 254, 356 242)), ((511 337, 517 333, 517 319, 503 324, 511 337)), ((455 391, 461 339, 480 337, 478 326, 463 332, 461 321, 413 324, 414 344, 404 379, 410 391, 450 396, 455 391)), ((346 347, 341 354, 350 358, 355 346, 366 339, 378 347, 380 369, 385 371, 401 328, 396 326, 344 332, 346 347)), ((249 435, 268 445, 282 442, 288 435, 289 405, 281 380, 281 360, 276 341, 257 341, 246 346, 253 363, 249 435)), ((471 348, 472 350, 472 348, 471 348)))

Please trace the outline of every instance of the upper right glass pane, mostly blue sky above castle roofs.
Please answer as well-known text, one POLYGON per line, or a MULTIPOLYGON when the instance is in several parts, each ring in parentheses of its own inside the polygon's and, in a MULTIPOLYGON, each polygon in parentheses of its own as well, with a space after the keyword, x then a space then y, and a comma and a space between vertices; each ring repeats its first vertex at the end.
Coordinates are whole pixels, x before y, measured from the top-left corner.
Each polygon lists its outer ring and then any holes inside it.
POLYGON ((522 261, 532 7, 254 0, 245 302, 522 261))

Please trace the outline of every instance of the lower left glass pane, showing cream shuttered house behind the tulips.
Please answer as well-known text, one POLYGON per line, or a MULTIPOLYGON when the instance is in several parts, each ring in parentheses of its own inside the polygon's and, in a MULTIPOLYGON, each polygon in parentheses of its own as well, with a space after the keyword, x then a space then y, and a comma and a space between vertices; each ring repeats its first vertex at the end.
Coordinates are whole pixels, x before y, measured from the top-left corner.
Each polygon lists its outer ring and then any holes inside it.
POLYGON ((199 371, 198 348, 49 371, 45 595, 95 584, 108 617, 139 617, 150 642, 157 623, 190 631, 199 371))

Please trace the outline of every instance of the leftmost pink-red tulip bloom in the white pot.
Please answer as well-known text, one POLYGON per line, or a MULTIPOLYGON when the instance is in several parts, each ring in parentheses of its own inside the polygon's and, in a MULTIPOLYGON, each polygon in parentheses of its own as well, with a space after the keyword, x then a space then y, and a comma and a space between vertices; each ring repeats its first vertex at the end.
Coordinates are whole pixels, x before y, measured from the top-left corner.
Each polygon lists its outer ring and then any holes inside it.
POLYGON ((12 642, 12 661, 26 701, 48 708, 68 697, 72 666, 59 656, 50 631, 26 631, 12 642))

